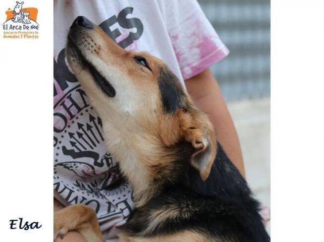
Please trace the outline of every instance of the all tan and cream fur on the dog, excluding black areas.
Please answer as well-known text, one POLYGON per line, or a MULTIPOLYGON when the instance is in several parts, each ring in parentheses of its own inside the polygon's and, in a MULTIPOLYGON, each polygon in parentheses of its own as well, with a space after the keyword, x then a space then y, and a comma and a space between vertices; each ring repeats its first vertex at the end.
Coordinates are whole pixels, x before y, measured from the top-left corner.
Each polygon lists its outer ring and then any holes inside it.
MULTIPOLYGON (((73 48, 66 50, 68 62, 90 102, 102 121, 108 150, 119 161, 119 166, 134 189, 136 207, 144 206, 159 193, 162 179, 172 172, 175 160, 169 146, 180 140, 192 144, 195 152, 188 165, 199 170, 202 179, 210 173, 216 155, 215 132, 208 117, 194 107, 187 95, 189 109, 179 109, 173 114, 163 112, 159 91, 159 70, 165 64, 158 58, 141 52, 126 51, 115 44, 98 26, 80 30, 73 39, 83 58, 96 67, 116 90, 108 97, 95 83, 87 66, 78 59, 73 48), (144 56, 152 69, 140 66, 135 55, 144 56), (172 128, 170 128, 172 127, 172 128)), ((186 91, 184 90, 186 93, 186 91)), ((184 210, 167 207, 151 216, 151 227, 168 218, 186 216, 184 210)), ((81 233, 88 242, 102 240, 95 212, 84 205, 72 205, 54 215, 54 238, 70 230, 81 233)), ((184 231, 154 239, 135 239, 125 236, 125 242, 209 242, 204 235, 184 231)))

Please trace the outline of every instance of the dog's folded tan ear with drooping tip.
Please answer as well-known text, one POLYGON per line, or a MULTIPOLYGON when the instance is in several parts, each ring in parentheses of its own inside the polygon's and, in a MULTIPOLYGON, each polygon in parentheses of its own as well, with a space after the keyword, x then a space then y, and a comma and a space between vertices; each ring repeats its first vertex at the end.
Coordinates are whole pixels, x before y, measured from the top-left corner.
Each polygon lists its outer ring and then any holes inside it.
POLYGON ((196 109, 178 109, 173 115, 166 115, 161 122, 161 137, 166 145, 181 140, 191 143, 194 152, 191 165, 206 180, 216 156, 216 135, 207 115, 196 109))

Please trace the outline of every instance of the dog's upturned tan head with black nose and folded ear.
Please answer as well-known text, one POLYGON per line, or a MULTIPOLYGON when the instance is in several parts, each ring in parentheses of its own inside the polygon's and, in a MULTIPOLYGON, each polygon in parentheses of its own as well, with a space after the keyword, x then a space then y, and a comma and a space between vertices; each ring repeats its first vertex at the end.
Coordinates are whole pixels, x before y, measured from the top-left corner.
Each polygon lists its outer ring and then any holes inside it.
POLYGON ((165 165, 164 156, 172 157, 168 147, 185 142, 192 147, 188 163, 203 180, 208 177, 216 155, 213 126, 162 60, 119 47, 85 17, 70 28, 66 56, 103 120, 107 140, 115 139, 108 148, 119 161, 127 158, 118 154, 131 150, 134 162, 165 165))

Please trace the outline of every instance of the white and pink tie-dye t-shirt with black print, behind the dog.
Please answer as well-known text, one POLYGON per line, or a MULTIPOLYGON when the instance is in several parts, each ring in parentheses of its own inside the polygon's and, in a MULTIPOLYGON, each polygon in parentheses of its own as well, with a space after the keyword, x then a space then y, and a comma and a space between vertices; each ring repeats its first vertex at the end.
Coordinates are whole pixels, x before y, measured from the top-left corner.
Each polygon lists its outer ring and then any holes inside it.
POLYGON ((182 84, 228 54, 196 0, 54 0, 54 196, 97 212, 105 240, 130 215, 132 189, 107 150, 101 119, 66 63, 66 35, 85 16, 126 49, 161 58, 182 84))

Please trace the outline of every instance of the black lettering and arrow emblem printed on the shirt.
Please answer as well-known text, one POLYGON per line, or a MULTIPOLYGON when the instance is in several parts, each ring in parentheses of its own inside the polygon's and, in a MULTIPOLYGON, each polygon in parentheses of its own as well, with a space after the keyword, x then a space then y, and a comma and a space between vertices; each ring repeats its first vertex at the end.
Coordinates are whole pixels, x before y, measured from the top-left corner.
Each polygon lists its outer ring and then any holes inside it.
MULTIPOLYGON (((139 40, 144 31, 132 12, 132 7, 125 7, 99 25, 123 48, 139 40)), ((118 213, 127 217, 133 207, 132 189, 107 151, 102 121, 70 71, 64 49, 55 57, 54 190, 68 203, 91 205, 99 220, 118 213)))

